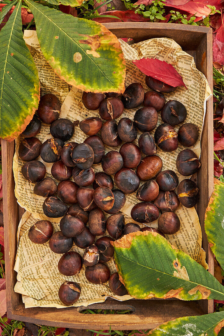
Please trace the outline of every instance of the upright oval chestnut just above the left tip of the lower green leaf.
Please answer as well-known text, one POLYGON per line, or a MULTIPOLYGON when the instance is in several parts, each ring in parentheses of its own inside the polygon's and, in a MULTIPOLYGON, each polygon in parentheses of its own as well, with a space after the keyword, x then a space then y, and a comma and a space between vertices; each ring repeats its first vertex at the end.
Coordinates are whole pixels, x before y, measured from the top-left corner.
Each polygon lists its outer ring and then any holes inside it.
POLYGON ((124 234, 124 215, 115 213, 107 218, 107 232, 114 239, 119 239, 124 234))

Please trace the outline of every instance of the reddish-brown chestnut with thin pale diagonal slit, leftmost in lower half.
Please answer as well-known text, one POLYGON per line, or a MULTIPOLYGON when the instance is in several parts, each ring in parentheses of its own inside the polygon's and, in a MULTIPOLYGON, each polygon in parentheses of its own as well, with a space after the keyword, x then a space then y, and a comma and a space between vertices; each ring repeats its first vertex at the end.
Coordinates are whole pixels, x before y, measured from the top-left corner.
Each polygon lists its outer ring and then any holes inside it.
POLYGON ((49 220, 38 220, 31 226, 28 237, 35 244, 44 244, 48 242, 53 234, 53 225, 49 220))

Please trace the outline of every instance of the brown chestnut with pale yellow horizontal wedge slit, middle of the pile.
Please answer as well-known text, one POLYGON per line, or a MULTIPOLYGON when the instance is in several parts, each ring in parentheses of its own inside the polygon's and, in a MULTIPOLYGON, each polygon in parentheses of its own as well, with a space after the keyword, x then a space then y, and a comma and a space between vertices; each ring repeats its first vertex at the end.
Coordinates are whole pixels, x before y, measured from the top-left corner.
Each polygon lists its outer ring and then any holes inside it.
POLYGON ((114 195, 107 187, 98 187, 94 191, 94 202, 102 210, 110 210, 114 205, 114 195))

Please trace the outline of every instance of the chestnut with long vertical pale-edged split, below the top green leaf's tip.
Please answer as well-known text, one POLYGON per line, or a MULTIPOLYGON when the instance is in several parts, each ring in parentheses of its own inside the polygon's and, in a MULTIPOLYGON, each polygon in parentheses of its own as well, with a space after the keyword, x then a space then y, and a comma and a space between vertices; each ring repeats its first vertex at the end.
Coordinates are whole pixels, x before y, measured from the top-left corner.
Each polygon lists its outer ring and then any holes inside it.
POLYGON ((122 101, 117 97, 106 98, 99 107, 99 114, 104 120, 119 118, 124 111, 122 101))

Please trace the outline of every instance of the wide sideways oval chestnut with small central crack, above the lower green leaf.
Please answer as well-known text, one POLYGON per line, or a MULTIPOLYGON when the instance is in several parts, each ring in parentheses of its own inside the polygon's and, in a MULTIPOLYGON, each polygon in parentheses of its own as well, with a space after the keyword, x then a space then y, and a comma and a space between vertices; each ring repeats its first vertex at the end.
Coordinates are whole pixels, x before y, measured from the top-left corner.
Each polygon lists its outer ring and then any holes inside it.
POLYGON ((159 217, 159 210, 152 203, 141 202, 134 205, 131 217, 139 223, 150 223, 159 217))

